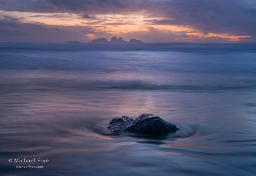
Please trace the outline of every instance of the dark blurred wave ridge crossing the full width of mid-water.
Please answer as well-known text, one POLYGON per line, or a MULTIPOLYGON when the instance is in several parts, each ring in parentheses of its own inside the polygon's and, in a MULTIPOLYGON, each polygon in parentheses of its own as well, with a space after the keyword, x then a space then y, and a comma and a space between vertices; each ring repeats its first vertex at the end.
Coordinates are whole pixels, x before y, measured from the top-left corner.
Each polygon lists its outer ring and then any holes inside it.
POLYGON ((81 81, 72 80, 2 80, 0 90, 27 89, 27 90, 50 90, 56 88, 86 89, 86 90, 170 90, 170 91, 200 91, 200 90, 239 90, 254 89, 256 82, 236 83, 236 84, 154 84, 142 80, 131 81, 81 81))

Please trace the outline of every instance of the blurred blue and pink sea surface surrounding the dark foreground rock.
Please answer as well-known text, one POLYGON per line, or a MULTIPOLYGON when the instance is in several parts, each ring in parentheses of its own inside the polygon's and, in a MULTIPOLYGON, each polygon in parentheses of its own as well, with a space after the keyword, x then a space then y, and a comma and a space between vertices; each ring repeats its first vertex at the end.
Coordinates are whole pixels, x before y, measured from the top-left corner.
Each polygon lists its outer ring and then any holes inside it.
POLYGON ((1 175, 253 176, 255 49, 0 46, 1 175), (109 135, 113 117, 142 113, 180 130, 109 135), (49 163, 21 169, 10 158, 49 163))

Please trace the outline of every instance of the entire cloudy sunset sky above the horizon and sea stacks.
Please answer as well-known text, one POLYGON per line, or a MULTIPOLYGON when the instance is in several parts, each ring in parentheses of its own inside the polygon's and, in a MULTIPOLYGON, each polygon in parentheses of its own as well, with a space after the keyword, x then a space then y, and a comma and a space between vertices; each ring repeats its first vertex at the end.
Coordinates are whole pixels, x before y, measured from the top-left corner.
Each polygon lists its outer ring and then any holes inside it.
POLYGON ((0 42, 256 43, 256 0, 0 0, 0 42))

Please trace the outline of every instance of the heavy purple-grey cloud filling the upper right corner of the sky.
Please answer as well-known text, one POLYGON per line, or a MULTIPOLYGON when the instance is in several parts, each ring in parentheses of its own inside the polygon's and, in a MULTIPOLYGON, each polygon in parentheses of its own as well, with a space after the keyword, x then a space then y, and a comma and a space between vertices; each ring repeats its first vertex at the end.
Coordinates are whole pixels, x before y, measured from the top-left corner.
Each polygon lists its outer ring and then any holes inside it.
POLYGON ((256 1, 173 0, 166 1, 162 11, 165 17, 184 20, 206 34, 256 35, 256 1))

